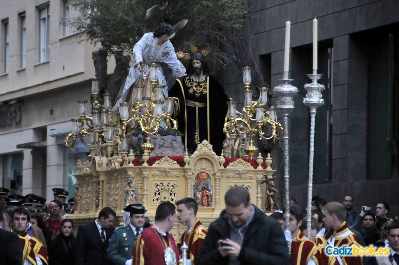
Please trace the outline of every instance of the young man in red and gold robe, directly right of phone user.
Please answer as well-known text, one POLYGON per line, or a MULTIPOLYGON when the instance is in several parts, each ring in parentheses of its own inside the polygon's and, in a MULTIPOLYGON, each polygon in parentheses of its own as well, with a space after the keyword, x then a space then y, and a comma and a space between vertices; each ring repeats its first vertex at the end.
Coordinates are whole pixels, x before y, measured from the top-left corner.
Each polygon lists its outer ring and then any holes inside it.
POLYGON ((292 265, 317 265, 319 252, 314 242, 305 238, 299 229, 302 225, 304 212, 297 205, 290 206, 291 232, 291 264, 292 265))

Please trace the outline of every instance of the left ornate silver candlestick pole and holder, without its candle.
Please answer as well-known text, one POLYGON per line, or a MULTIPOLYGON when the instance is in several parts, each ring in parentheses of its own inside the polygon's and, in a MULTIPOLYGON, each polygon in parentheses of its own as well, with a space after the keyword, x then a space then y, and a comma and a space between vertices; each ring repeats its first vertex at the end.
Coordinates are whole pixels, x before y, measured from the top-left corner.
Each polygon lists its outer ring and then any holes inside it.
POLYGON ((290 224, 290 199, 289 199, 289 126, 288 115, 294 109, 293 97, 298 93, 298 88, 293 86, 293 79, 288 78, 288 72, 284 72, 280 84, 273 88, 273 95, 277 96, 277 111, 283 114, 283 142, 284 142, 284 199, 285 199, 285 224, 289 231, 290 224))

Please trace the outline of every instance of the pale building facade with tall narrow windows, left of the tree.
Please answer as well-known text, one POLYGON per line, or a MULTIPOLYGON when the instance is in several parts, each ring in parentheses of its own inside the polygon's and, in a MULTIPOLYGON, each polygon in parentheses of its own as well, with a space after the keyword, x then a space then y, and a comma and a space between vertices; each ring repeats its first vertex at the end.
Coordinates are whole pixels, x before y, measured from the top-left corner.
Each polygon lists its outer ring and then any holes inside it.
POLYGON ((98 47, 79 43, 83 34, 60 23, 78 15, 69 0, 0 6, 0 187, 47 202, 59 187, 72 198, 76 160, 85 160, 88 149, 77 144, 71 151, 63 141, 78 117, 77 100, 90 100, 98 47))

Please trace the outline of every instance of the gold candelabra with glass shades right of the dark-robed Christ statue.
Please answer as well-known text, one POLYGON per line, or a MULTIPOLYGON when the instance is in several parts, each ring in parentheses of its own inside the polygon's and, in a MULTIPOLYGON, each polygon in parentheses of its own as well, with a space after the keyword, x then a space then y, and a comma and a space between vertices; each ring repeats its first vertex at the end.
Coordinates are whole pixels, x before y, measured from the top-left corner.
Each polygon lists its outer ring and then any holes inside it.
POLYGON ((252 90, 250 89, 251 68, 243 67, 243 83, 244 83, 244 106, 242 113, 236 110, 236 102, 229 102, 228 120, 224 123, 223 131, 230 134, 242 135, 249 137, 249 145, 244 149, 245 153, 252 158, 258 148, 254 146, 253 141, 256 134, 259 140, 280 139, 283 133, 283 127, 276 119, 274 108, 265 109, 267 103, 267 88, 260 88, 259 100, 252 100, 252 90))

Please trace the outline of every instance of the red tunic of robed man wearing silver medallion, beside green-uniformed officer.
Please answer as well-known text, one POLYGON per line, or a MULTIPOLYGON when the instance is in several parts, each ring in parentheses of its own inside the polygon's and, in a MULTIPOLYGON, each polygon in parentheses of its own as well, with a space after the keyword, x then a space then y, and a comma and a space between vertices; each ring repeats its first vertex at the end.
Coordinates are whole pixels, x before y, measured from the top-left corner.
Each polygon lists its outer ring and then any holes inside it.
POLYGON ((165 265, 165 249, 171 247, 179 263, 179 249, 172 234, 160 234, 154 227, 146 229, 137 238, 133 248, 132 265, 165 265))

